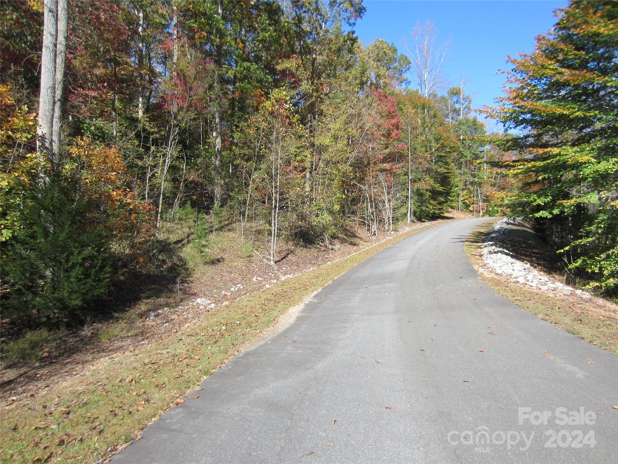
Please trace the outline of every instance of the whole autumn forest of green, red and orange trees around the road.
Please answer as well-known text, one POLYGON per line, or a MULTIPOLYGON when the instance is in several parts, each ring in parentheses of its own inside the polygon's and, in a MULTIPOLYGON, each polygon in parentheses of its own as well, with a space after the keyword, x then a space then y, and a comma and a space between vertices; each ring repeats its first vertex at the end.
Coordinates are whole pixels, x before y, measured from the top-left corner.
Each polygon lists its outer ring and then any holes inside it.
MULTIPOLYGON (((448 211, 528 218, 588 288, 618 289, 618 6, 557 12, 484 116, 431 22, 363 45, 352 0, 1 4, 2 319, 96 317, 140 275, 269 264, 448 211), (179 228, 190 238, 174 240, 179 228)), ((541 32, 541 31, 540 31, 541 32)))

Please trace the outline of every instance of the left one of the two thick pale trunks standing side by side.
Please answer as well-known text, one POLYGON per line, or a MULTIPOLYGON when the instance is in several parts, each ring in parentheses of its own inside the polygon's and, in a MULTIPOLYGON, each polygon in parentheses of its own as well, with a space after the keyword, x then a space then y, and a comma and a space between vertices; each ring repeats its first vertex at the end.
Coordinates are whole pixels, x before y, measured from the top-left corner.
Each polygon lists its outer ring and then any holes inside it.
POLYGON ((54 152, 53 120, 56 93, 57 8, 55 0, 45 0, 43 11, 43 53, 41 54, 41 87, 39 93, 38 126, 36 127, 36 160, 41 183, 46 182, 44 162, 54 152))

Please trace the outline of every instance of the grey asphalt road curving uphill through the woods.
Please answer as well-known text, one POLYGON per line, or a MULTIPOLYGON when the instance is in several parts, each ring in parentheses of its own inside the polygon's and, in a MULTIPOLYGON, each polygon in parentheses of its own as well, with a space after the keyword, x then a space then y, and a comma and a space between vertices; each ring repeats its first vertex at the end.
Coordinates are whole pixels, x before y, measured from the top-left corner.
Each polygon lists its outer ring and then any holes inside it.
POLYGON ((618 462, 618 357, 486 286, 462 247, 481 221, 345 273, 114 463, 618 462))

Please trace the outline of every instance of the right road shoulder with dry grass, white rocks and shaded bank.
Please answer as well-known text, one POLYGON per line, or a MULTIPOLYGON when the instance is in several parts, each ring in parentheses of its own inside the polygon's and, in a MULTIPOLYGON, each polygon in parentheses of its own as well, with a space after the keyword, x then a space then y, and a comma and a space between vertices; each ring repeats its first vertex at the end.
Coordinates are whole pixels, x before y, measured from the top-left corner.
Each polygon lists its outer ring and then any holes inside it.
POLYGON ((496 218, 469 235, 464 249, 481 278, 517 306, 618 354, 618 306, 567 285, 543 269, 548 249, 522 223, 496 218))

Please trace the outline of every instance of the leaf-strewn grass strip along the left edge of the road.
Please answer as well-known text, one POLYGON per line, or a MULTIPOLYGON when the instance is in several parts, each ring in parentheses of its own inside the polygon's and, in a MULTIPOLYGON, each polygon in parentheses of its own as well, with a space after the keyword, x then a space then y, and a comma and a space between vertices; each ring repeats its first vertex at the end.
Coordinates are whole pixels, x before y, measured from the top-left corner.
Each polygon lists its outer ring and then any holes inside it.
POLYGON ((166 342, 98 361, 64 384, 2 411, 2 462, 91 463, 138 439, 138 432, 271 327, 287 309, 422 226, 352 256, 279 281, 206 314, 166 342))

